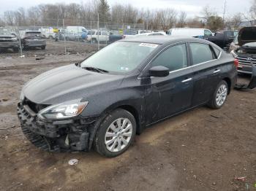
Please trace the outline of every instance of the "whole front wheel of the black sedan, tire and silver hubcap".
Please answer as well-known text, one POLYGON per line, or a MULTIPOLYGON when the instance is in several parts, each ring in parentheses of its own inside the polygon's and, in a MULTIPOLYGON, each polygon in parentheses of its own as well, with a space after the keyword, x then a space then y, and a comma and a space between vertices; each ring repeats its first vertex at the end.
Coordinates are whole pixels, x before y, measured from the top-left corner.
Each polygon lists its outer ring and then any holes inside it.
POLYGON ((116 157, 129 148, 135 139, 135 134, 135 117, 127 110, 116 109, 108 114, 99 125, 94 147, 100 155, 116 157))

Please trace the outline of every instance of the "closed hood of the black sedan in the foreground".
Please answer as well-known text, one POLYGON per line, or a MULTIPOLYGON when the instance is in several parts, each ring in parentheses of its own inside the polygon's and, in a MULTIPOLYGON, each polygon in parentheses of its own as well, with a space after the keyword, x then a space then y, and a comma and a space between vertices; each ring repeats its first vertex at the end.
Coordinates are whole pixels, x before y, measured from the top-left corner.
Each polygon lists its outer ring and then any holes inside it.
POLYGON ((113 90, 122 79, 124 75, 101 74, 72 64, 35 77, 24 85, 22 93, 37 104, 59 104, 113 90))

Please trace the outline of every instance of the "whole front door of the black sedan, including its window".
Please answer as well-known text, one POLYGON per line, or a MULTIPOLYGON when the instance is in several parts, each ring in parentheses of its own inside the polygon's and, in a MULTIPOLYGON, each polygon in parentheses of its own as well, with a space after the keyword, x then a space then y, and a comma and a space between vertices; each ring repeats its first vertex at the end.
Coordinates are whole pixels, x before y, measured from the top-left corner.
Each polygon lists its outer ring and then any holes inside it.
MULTIPOLYGON (((163 50, 151 66, 165 66, 167 77, 151 77, 146 86, 146 124, 181 112, 192 104, 193 71, 189 66, 186 44, 163 50)), ((149 68, 150 68, 149 67, 149 68)))

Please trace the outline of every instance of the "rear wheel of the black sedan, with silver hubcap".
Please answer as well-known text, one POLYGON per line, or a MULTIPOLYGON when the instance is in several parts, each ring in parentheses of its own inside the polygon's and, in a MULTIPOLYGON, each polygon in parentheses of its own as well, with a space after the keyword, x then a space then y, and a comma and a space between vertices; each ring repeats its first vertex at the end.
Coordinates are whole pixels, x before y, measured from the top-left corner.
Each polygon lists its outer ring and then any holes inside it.
POLYGON ((208 106, 212 109, 220 109, 225 104, 227 100, 227 93, 228 93, 228 85, 225 80, 219 82, 217 85, 216 90, 214 91, 214 95, 209 101, 208 106))

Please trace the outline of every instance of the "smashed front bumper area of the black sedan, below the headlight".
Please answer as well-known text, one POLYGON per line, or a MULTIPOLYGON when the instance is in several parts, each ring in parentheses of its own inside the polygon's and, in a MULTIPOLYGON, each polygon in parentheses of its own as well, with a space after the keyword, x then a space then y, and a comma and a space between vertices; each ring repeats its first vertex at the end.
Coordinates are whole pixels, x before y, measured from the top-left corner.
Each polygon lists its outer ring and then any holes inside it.
POLYGON ((25 136, 37 147, 49 151, 89 151, 99 125, 99 117, 68 120, 41 120, 26 104, 18 104, 18 118, 25 136), (34 135, 34 136, 31 136, 34 135), (32 139, 32 140, 31 140, 32 139), (36 140, 34 140, 36 139, 36 140))

